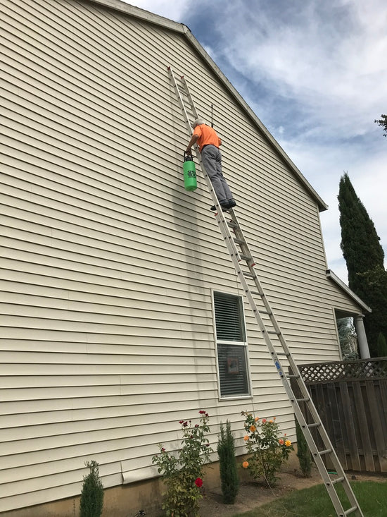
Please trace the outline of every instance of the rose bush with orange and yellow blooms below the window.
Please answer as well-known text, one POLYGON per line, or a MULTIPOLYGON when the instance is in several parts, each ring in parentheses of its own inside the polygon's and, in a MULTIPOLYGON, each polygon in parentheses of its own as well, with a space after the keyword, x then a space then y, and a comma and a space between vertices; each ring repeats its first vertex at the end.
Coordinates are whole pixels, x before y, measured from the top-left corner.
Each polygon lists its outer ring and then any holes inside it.
POLYGON ((242 411, 242 415, 246 418, 244 427, 247 434, 243 439, 248 450, 248 458, 242 467, 249 470, 255 480, 264 478, 270 487, 276 482, 281 465, 288 461, 293 446, 285 437, 279 438, 275 417, 261 420, 246 411, 242 411))

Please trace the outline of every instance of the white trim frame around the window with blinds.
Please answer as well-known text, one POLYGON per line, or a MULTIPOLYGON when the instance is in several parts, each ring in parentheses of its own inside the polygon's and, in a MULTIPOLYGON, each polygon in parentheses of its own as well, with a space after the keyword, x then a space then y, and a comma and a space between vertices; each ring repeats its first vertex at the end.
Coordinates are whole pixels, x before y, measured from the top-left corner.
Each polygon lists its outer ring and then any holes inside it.
POLYGON ((230 293, 229 291, 221 291, 220 289, 211 289, 211 302, 212 302, 212 322, 214 327, 214 345, 215 345, 215 363, 216 363, 216 375, 217 375, 217 391, 218 391, 218 399, 219 401, 229 401, 229 400, 246 400, 253 399, 253 384, 251 381, 251 367, 250 367, 250 353, 248 349, 248 337, 247 337, 247 328, 246 328, 246 315, 245 315, 245 305, 243 296, 235 293, 230 293), (215 318, 215 293, 224 294, 227 296, 234 296, 235 298, 239 298, 241 303, 241 322, 243 324, 243 335, 245 337, 245 341, 225 341, 224 339, 217 339, 217 329, 216 329, 216 318, 215 318), (220 370, 219 370, 219 360, 218 360, 218 344, 222 345, 236 345, 243 347, 243 352, 245 354, 246 361, 246 375, 247 375, 247 385, 249 393, 246 395, 227 395, 222 396, 220 389, 220 370))

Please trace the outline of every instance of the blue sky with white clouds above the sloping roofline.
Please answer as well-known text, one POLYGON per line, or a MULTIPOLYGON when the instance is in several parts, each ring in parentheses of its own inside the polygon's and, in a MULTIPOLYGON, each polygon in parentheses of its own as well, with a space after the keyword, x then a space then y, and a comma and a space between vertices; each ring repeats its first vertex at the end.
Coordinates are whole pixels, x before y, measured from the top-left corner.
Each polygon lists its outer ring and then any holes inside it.
MULTIPOLYGON (((187 25, 329 209, 328 267, 343 281, 346 172, 387 255, 386 0, 131 0, 187 25)), ((387 260, 385 261, 387 264, 387 260)))

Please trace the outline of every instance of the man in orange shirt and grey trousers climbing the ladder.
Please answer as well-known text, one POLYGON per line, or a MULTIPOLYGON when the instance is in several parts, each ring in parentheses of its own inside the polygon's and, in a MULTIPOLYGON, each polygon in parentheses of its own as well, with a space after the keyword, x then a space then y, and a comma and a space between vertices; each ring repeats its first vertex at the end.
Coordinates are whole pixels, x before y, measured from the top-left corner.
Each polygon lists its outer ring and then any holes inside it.
MULTIPOLYGON (((222 154, 219 150, 222 140, 218 137, 215 129, 207 126, 201 118, 196 118, 191 126, 194 128, 194 134, 186 146, 186 154, 191 154, 191 147, 196 143, 198 144, 203 165, 211 180, 220 206, 224 210, 234 208, 236 202, 222 173, 222 154)), ((216 210, 215 205, 211 207, 211 210, 216 210)))

